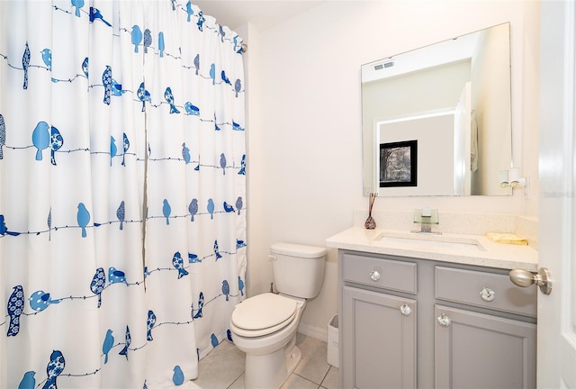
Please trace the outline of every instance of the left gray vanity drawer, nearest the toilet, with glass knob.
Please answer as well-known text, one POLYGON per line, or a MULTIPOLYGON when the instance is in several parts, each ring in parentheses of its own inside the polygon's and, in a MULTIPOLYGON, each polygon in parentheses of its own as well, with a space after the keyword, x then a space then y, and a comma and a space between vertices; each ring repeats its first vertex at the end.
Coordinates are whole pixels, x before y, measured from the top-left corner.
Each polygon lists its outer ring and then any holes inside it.
POLYGON ((344 282, 417 293, 416 263, 344 254, 344 282))

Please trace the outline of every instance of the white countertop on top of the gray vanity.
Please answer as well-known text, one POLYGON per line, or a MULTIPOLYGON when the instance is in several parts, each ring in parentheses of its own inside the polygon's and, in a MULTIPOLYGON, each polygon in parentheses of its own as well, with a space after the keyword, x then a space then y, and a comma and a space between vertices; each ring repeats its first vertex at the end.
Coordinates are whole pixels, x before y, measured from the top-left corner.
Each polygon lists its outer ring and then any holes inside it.
MULTIPOLYGON (((422 258, 463 265, 496 267, 504 269, 523 268, 531 272, 538 269, 538 251, 529 246, 495 243, 484 235, 444 233, 436 236, 419 236, 416 239, 450 241, 477 241, 480 249, 460 249, 453 247, 432 247, 426 244, 414 244, 409 239, 380 240, 379 237, 405 237, 410 231, 366 230, 364 227, 352 227, 326 240, 326 246, 336 249, 364 251, 376 254, 388 254, 399 257, 422 258), (403 242, 405 241, 405 243, 403 242)), ((420 243, 416 242, 416 243, 420 243)))

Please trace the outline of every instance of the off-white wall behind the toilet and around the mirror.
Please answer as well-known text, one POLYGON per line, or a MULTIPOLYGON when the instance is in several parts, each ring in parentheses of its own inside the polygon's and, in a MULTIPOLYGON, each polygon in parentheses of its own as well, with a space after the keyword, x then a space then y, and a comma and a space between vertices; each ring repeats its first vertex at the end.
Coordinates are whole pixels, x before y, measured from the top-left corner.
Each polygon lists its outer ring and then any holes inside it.
MULTIPOLYGON (((329 1, 266 31, 238 31, 247 52, 248 295, 272 280, 279 240, 323 246, 367 209, 362 195, 360 66, 491 25, 511 23, 514 161, 529 198, 386 197, 377 210, 537 216, 539 5, 536 1, 329 1)), ((326 331, 338 310, 336 252, 302 317, 326 331)))

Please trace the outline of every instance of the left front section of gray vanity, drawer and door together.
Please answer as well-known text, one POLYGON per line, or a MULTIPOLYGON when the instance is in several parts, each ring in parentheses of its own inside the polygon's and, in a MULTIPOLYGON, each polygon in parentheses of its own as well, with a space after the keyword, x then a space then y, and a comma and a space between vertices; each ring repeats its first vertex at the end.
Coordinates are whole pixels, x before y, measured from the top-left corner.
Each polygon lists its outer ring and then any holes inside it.
POLYGON ((341 262, 341 387, 415 388, 417 303, 390 291, 417 293, 416 263, 356 254, 341 262))

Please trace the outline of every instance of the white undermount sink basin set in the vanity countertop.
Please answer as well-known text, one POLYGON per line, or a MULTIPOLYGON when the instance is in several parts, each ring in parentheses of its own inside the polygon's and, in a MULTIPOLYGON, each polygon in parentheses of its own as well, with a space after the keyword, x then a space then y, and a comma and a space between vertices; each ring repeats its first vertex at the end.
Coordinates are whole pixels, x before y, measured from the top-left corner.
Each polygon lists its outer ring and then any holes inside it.
POLYGON ((484 251, 480 242, 473 238, 455 237, 437 234, 421 234, 418 232, 391 233, 382 232, 374 243, 390 245, 419 246, 421 248, 437 249, 465 249, 473 251, 484 251))

